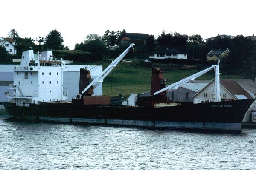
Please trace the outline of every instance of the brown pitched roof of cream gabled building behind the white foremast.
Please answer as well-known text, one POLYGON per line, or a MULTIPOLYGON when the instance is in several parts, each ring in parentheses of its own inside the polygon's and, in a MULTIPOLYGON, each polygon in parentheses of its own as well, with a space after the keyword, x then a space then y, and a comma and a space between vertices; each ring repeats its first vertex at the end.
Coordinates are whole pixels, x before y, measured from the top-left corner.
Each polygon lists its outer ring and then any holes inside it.
MULTIPOLYGON (((211 82, 214 82, 215 79, 212 79, 211 82)), ((206 88, 209 84, 211 84, 211 82, 209 82, 204 88, 206 88)), ((227 91, 230 92, 230 94, 232 94, 233 96, 235 96, 238 99, 241 99, 239 96, 243 95, 245 96, 247 99, 253 99, 253 97, 250 95, 250 93, 248 91, 246 91, 242 86, 240 86, 235 80, 233 79, 220 79, 220 85, 225 88, 227 91)), ((202 88, 200 91, 198 91, 197 94, 199 94, 199 92, 203 91, 204 88, 202 88)), ((197 94, 195 94, 193 97, 195 97, 197 94)))

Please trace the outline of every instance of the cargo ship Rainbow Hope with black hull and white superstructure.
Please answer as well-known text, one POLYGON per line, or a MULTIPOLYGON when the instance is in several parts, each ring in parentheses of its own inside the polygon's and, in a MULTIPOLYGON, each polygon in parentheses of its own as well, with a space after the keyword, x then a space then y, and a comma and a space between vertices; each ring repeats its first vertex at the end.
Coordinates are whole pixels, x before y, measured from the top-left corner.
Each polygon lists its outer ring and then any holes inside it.
POLYGON ((200 103, 194 103, 174 102, 166 97, 167 91, 177 89, 212 69, 215 69, 215 94, 220 94, 219 62, 171 85, 166 85, 163 71, 152 68, 151 95, 138 97, 134 101, 135 105, 113 105, 109 96, 93 95, 93 89, 103 82, 133 46, 134 44, 131 44, 96 79, 91 78, 90 70, 81 68, 79 94, 72 101, 67 101, 67 94, 62 90, 61 72, 64 60, 52 58, 50 52, 33 58, 32 54, 26 55, 25 51, 20 67, 14 68, 14 85, 10 85, 10 90, 13 92, 7 94, 9 101, 2 104, 12 117, 36 121, 241 131, 244 114, 254 99, 222 100, 220 95, 216 95, 210 101, 202 100, 200 103), (47 86, 44 88, 47 79, 42 76, 49 70, 51 73, 58 71, 55 76, 56 80, 60 80, 55 87, 53 97, 52 94, 49 96, 47 93, 47 86), (30 81, 26 76, 32 71, 38 84, 35 88, 31 86, 29 89, 30 81), (29 93, 23 94, 25 90, 29 93))

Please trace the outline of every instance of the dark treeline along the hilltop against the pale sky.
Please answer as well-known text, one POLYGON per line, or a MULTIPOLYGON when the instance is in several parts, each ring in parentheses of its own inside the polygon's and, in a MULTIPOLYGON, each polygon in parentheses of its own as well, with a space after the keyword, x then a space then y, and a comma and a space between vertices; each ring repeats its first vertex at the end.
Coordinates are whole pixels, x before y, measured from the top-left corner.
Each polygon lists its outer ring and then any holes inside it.
MULTIPOLYGON (((90 58, 90 61, 108 59, 118 56, 127 46, 120 45, 120 40, 122 35, 126 31, 110 31, 106 30, 103 36, 98 34, 89 34, 85 38, 84 42, 75 45, 76 51, 81 51, 79 55, 74 54, 74 57, 69 57, 74 61, 84 61, 86 58, 90 58), (84 53, 88 52, 88 53, 84 53), (84 57, 83 57, 84 55, 84 57), (77 57, 83 57, 84 59, 77 59, 77 57)), ((52 30, 45 37, 41 49, 39 45, 36 45, 32 38, 21 38, 15 29, 9 31, 8 37, 12 37, 16 42, 17 46, 17 56, 21 55, 22 51, 28 49, 33 50, 69 50, 68 47, 63 45, 63 37, 60 32, 57 30, 52 30)), ((153 51, 166 49, 166 48, 175 48, 180 51, 184 51, 188 54, 188 60, 192 64, 204 63, 205 66, 200 66, 198 68, 204 68, 207 65, 212 64, 207 62, 207 53, 214 49, 229 49, 230 54, 228 57, 221 59, 221 71, 224 74, 244 74, 247 77, 256 77, 256 41, 252 41, 243 35, 238 35, 233 39, 216 37, 215 40, 209 40, 207 42, 203 41, 203 38, 200 34, 180 34, 175 33, 166 33, 164 30, 162 33, 154 37, 150 35, 146 43, 143 45, 135 45, 135 51, 130 52, 126 57, 127 58, 137 58, 137 59, 146 59, 149 54, 152 54, 153 51), (193 55, 194 49, 194 55, 193 55)), ((63 54, 63 53, 62 53, 63 54)), ((8 62, 8 56, 5 48, 0 48, 0 61, 8 62)), ((188 62, 189 63, 189 62, 188 62)))

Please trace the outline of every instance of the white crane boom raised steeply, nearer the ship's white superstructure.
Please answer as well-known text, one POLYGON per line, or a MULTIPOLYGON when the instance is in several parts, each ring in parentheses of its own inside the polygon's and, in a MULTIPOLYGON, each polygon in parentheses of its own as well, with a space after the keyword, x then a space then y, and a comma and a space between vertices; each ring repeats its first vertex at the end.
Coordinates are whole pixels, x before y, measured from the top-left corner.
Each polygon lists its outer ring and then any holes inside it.
POLYGON ((93 80, 83 91, 82 94, 87 91, 91 86, 93 86, 93 89, 99 85, 100 82, 103 82, 103 79, 108 76, 108 74, 113 70, 114 67, 125 57, 125 55, 130 51, 130 49, 134 46, 135 44, 130 44, 128 48, 122 54, 120 54, 113 62, 111 62, 110 65, 108 65, 107 68, 105 68, 104 71, 102 71, 99 76, 93 80))

